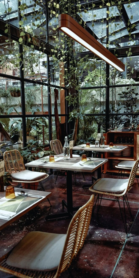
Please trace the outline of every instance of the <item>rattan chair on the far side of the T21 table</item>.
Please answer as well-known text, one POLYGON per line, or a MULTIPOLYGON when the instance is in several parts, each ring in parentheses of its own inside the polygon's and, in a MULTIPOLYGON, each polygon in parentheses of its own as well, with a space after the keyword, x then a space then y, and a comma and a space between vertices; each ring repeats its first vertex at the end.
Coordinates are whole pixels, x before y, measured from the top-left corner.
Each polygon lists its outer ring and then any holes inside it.
MULTIPOLYGON (((64 153, 63 153, 63 147, 62 147, 61 142, 60 142, 58 139, 56 139, 56 140, 51 140, 51 141, 50 141, 50 147, 51 147, 51 150, 52 150, 56 155, 59 155, 59 156, 62 156, 62 157, 63 157, 63 155, 64 155, 64 153)), ((80 155, 78 155, 78 154, 73 154, 72 156, 73 156, 73 158, 80 157, 80 155)), ((60 170, 58 170, 58 173, 59 173, 59 171, 60 171, 60 170)), ((57 173, 56 181, 57 181, 57 178, 58 178, 58 173, 57 173)), ((84 180, 85 180, 85 177, 84 177, 83 172, 81 172, 81 173, 82 173, 82 176, 83 176, 83 178, 84 178, 84 180)), ((73 177, 74 177, 74 173, 73 173, 73 177)), ((56 181, 55 181, 55 183, 56 183, 56 181)), ((75 181, 75 184, 76 184, 76 171, 75 171, 74 181, 75 181)))

